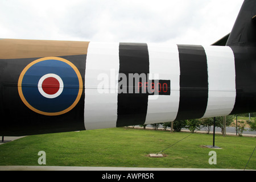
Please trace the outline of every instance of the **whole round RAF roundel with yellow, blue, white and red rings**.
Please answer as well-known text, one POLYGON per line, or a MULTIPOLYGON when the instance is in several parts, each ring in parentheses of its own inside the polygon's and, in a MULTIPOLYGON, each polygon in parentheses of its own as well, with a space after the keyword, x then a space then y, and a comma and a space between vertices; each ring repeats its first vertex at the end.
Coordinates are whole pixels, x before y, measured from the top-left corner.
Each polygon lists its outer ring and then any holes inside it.
POLYGON ((70 61, 43 57, 32 61, 19 76, 18 92, 23 103, 43 115, 72 110, 82 94, 82 77, 70 61))

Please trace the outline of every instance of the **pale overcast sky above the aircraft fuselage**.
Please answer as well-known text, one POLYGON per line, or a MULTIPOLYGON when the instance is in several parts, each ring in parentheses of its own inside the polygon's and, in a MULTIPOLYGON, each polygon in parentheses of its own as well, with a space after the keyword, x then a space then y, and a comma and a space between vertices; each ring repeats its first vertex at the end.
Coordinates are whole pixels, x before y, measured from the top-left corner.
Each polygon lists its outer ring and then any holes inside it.
POLYGON ((0 0, 0 38, 210 45, 243 0, 0 0))

